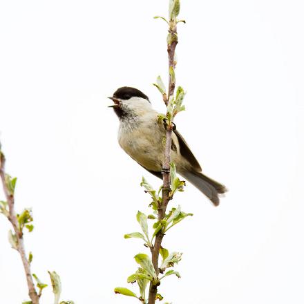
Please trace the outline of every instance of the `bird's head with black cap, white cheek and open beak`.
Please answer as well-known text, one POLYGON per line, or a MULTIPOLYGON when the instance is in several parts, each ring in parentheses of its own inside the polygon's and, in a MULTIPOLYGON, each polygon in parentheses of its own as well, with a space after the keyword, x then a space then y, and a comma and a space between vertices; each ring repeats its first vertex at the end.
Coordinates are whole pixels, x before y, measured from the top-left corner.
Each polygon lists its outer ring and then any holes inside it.
POLYGON ((120 120, 125 118, 144 115, 146 111, 151 111, 149 97, 144 95, 137 88, 123 86, 118 88, 113 96, 108 97, 114 104, 110 106, 114 109, 120 120))

